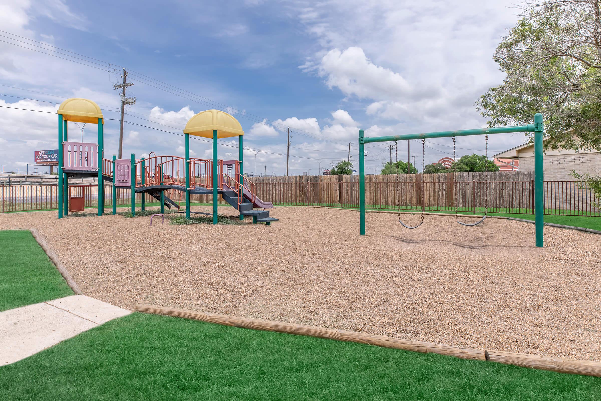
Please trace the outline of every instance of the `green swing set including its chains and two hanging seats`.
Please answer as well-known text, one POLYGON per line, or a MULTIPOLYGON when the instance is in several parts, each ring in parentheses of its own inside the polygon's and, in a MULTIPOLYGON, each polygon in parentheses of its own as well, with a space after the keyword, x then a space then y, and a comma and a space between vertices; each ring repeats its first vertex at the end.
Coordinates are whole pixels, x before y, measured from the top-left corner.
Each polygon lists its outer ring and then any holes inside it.
MULTIPOLYGON (((453 159, 455 159, 455 138, 457 136, 470 136, 470 135, 485 135, 486 138, 486 160, 488 161, 488 139, 490 134, 495 133, 514 133, 514 132, 534 132, 534 214, 535 214, 535 243, 536 246, 543 246, 543 115, 537 113, 534 115, 534 124, 527 124, 521 126, 510 126, 510 127, 494 127, 494 128, 483 128, 483 129, 466 129, 457 131, 441 131, 441 132, 427 132, 427 133, 410 133, 406 135, 392 135, 392 136, 375 136, 367 137, 364 136, 364 131, 359 130, 359 232, 361 235, 365 235, 365 144, 371 142, 391 142, 394 141, 395 155, 397 155, 398 163, 398 152, 397 142, 398 141, 410 141, 412 139, 421 139, 422 144, 422 172, 424 171, 424 157, 426 156, 426 139, 430 138, 453 138, 453 159)), ((409 173, 409 164, 407 164, 407 173, 409 173)), ((455 173, 453 173, 453 178, 455 173)), ((455 182, 455 180, 453 180, 455 182)), ((454 186, 454 198, 457 199, 457 188, 454 186)), ((455 220, 458 224, 472 227, 483 222, 488 215, 488 163, 484 164, 484 216, 480 220, 474 223, 466 223, 459 221, 459 206, 455 201, 455 220)), ((401 221, 401 210, 400 201, 398 206, 398 222, 405 228, 413 229, 418 228, 424 224, 424 213, 426 212, 426 198, 424 197, 424 182, 421 182, 421 222, 419 224, 410 226, 404 224, 401 221)), ((400 171, 397 168, 397 194, 400 200, 400 171)))

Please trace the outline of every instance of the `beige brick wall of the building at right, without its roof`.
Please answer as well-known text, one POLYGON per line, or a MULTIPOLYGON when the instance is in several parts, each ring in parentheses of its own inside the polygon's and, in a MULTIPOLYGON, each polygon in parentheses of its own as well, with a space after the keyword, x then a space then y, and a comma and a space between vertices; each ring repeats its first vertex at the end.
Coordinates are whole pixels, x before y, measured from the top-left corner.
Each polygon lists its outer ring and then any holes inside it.
MULTIPOLYGON (((601 153, 571 153, 569 155, 543 156, 545 181, 573 181, 572 170, 577 173, 601 172, 601 153)), ((534 157, 520 157, 520 171, 534 171, 534 157)))

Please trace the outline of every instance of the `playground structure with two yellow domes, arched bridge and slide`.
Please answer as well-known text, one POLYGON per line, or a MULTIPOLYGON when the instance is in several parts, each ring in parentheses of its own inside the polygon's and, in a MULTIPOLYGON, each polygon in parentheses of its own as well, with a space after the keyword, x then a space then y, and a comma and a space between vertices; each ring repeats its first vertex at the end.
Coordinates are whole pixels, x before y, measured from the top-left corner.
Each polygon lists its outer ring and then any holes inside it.
MULTIPOLYGON (((183 130, 186 138, 185 157, 150 156, 136 159, 112 160, 103 158, 104 130, 103 115, 99 106, 88 99, 67 99, 59 106, 58 113, 58 218, 69 211, 69 177, 98 178, 98 215, 104 212, 104 185, 112 183, 112 214, 117 214, 117 190, 132 191, 132 215, 135 216, 136 193, 149 194, 160 202, 160 213, 165 206, 180 209, 185 198, 186 218, 190 218, 190 195, 213 195, 213 224, 217 224, 218 197, 227 201, 239 212, 240 220, 252 216, 252 222, 267 225, 278 219, 269 216, 271 202, 261 200, 255 194, 255 185, 243 174, 242 136, 244 131, 232 115, 220 110, 206 110, 194 115, 183 130), (73 142, 68 140, 67 121, 98 124, 98 143, 73 142), (213 140, 213 159, 190 158, 189 136, 203 136, 213 140), (238 136, 240 160, 218 159, 219 138, 238 136), (226 171, 224 172, 224 165, 226 171), (234 174, 233 176, 231 174, 234 174), (177 201, 176 201, 177 198, 177 201), (263 210, 254 210, 254 207, 263 210)), ((142 210, 145 197, 142 196, 142 210)))

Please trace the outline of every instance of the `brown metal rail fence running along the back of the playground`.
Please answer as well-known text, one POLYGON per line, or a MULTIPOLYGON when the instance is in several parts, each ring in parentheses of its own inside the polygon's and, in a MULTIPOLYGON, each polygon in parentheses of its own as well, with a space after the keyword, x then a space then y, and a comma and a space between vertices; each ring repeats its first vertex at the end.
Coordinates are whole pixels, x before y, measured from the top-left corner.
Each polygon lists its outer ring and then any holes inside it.
MULTIPOLYGON (((424 206, 430 212, 448 213, 458 210, 481 213, 484 212, 484 204, 487 204, 490 213, 534 213, 533 180, 484 181, 477 174, 469 176, 471 180, 457 182, 453 181, 450 174, 436 176, 409 174, 398 181, 396 176, 366 177, 370 179, 365 183, 365 204, 371 209, 421 210, 424 206)), ((276 205, 359 206, 359 182, 356 182, 353 177, 266 177, 254 181, 257 196, 276 205)), ((85 185, 85 187, 85 207, 97 206, 98 187, 96 185, 85 185)), ((598 194, 582 183, 546 181, 544 188, 545 214, 601 216, 601 210, 592 206, 598 194)), ((1 196, 2 212, 47 210, 58 207, 56 185, 2 185, 1 196)), ((148 206, 158 205, 157 200, 150 195, 144 194, 144 196, 148 206)), ((141 200, 142 194, 136 194, 136 203, 141 203, 141 200)), ((211 201, 212 195, 191 196, 192 203, 211 201)), ((131 204, 129 189, 121 189, 117 204, 131 204)), ((226 203, 220 198, 219 204, 226 203)), ((105 188, 105 206, 112 206, 110 186, 105 188)))

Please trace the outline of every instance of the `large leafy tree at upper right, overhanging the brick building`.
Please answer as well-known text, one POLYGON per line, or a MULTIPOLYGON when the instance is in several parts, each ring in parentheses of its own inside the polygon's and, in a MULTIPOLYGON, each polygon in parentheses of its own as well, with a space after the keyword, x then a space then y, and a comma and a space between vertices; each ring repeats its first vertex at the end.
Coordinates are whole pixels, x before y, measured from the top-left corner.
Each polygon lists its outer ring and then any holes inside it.
POLYGON ((545 147, 601 151, 600 1, 527 0, 518 8, 522 19, 493 56, 507 78, 480 97, 478 110, 489 126, 528 124, 540 111, 545 147))

